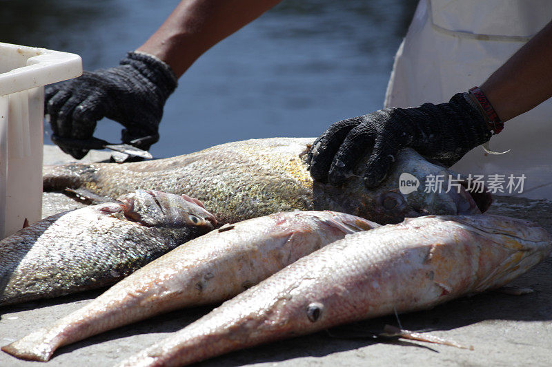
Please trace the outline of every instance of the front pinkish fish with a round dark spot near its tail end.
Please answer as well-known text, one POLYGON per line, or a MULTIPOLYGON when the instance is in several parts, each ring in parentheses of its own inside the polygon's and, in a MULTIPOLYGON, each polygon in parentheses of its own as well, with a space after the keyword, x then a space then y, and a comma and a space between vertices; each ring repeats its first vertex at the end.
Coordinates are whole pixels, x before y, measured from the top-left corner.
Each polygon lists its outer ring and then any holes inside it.
POLYGON ((424 216, 347 235, 240 293, 122 366, 185 366, 232 350, 495 289, 546 258, 551 236, 503 216, 424 216))

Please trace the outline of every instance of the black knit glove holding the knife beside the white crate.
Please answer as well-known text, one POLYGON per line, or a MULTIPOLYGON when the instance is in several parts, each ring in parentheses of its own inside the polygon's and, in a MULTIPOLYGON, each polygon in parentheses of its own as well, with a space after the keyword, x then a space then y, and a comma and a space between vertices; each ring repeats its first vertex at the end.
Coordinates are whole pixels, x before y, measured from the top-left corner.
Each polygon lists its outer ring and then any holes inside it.
MULTIPOLYGON (((177 87, 177 77, 163 61, 148 54, 128 52, 117 67, 83 72, 82 76, 46 88, 46 114, 52 132, 61 138, 92 137, 97 120, 115 120, 123 129, 121 140, 157 134, 163 107, 177 87)), ((151 144, 137 144, 148 150, 151 144)), ((61 149, 80 159, 87 149, 61 149)))

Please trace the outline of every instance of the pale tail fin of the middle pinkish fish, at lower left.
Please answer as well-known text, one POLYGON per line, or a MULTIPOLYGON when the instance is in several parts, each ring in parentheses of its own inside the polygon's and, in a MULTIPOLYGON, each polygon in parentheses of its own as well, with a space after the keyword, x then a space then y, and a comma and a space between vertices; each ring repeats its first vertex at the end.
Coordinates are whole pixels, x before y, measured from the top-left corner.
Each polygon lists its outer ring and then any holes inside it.
POLYGON ((1 350, 19 359, 46 362, 57 348, 55 340, 49 337, 46 331, 45 328, 35 331, 23 339, 3 346, 1 350))

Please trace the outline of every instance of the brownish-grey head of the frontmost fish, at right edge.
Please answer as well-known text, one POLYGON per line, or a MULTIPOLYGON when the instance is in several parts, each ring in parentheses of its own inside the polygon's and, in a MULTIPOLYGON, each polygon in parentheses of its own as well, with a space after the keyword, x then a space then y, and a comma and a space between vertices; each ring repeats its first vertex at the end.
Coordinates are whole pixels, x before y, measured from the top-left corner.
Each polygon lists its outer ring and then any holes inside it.
POLYGON ((527 220, 496 215, 441 218, 475 233, 486 244, 479 247, 475 291, 503 286, 544 260, 552 250, 550 233, 527 220))

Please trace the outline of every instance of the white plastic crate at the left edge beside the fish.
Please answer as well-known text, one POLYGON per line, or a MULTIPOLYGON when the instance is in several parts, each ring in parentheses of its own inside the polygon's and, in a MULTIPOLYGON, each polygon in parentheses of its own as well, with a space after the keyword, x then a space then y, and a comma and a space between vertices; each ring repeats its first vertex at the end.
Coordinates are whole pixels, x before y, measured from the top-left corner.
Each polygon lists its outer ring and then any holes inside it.
POLYGON ((81 74, 79 55, 0 43, 0 239, 41 218, 44 85, 81 74))

